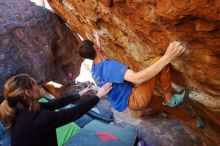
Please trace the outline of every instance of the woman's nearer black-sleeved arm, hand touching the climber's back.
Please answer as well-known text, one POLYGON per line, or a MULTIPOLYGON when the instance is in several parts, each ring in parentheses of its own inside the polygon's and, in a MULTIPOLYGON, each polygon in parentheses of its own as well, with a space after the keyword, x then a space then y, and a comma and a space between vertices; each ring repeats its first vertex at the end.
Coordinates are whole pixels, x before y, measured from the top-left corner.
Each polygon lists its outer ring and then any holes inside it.
POLYGON ((36 112, 36 115, 33 116, 33 124, 34 128, 36 128, 35 130, 40 132, 53 130, 80 118, 82 115, 91 110, 91 108, 99 102, 99 99, 105 96, 111 88, 112 84, 106 83, 98 90, 95 96, 87 95, 87 100, 72 108, 63 109, 58 112, 48 110, 36 112))

